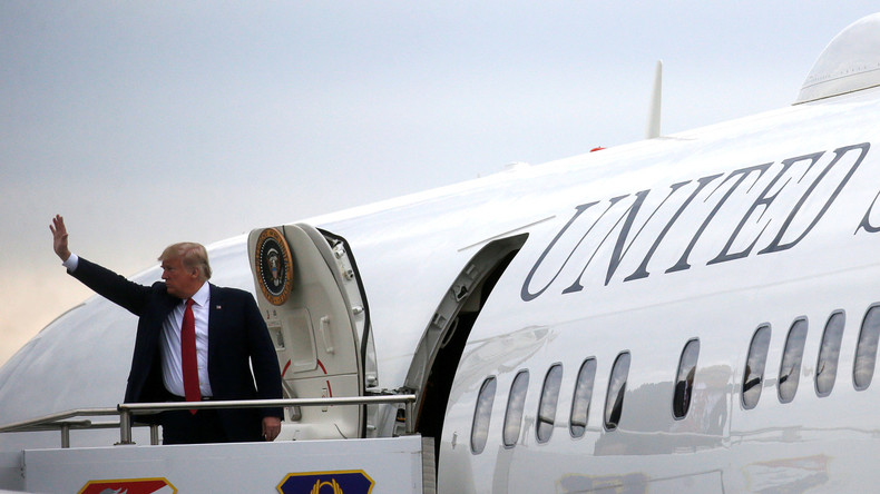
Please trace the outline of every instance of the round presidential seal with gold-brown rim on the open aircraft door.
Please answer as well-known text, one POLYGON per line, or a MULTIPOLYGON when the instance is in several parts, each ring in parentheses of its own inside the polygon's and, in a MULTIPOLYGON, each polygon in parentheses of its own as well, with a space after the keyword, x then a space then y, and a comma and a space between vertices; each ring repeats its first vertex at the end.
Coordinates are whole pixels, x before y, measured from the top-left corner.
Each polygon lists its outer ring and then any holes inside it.
POLYGON ((275 228, 266 228, 256 239, 256 277, 263 296, 282 305, 293 289, 293 258, 287 240, 275 228))

